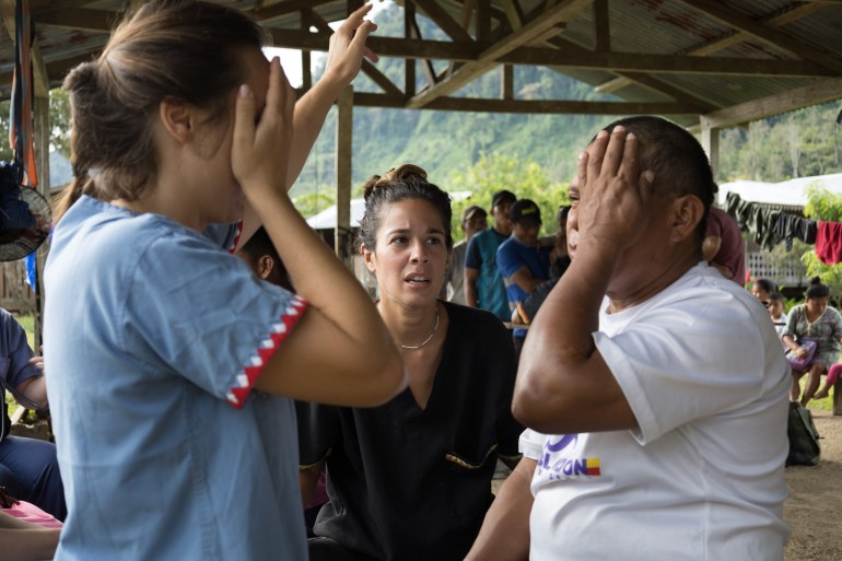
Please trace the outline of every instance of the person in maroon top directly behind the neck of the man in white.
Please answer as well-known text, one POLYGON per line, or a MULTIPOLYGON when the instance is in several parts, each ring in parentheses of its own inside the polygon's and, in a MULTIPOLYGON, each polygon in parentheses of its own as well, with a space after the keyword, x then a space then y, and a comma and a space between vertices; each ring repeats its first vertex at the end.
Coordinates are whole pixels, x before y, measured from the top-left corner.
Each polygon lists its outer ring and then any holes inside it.
POLYGON ((711 207, 707 213, 702 256, 726 279, 740 287, 746 282, 746 244, 742 243, 739 224, 730 214, 716 207, 711 207))

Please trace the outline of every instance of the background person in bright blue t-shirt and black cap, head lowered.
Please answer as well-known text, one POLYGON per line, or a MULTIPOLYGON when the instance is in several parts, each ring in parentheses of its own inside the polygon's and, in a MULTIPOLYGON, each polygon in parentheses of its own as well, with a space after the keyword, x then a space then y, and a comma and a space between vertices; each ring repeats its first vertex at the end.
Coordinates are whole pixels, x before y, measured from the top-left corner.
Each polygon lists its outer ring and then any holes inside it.
MULTIPOLYGON (((510 315, 524 299, 550 278, 550 252, 540 243, 541 210, 529 199, 519 199, 508 211, 512 235, 498 247, 496 260, 506 285, 510 315)), ((512 332, 519 357, 526 329, 516 327, 512 332)))

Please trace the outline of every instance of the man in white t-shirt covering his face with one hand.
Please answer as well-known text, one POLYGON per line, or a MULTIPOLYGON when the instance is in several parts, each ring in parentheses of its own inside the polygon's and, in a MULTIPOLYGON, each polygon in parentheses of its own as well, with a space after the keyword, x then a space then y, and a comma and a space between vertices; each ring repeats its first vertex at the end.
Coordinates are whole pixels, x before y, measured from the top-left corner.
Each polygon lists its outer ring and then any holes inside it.
POLYGON ((517 373, 524 459, 467 559, 783 559, 790 367, 767 309, 702 261, 713 191, 664 119, 580 156, 573 261, 517 373))

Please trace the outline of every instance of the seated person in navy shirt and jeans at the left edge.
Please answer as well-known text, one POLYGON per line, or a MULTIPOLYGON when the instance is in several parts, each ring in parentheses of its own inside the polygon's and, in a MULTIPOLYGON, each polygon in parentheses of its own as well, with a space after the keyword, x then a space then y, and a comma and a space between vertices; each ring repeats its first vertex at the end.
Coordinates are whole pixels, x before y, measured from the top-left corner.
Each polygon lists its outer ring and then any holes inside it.
POLYGON ((0 486, 9 494, 33 503, 56 518, 67 515, 56 445, 37 439, 11 436, 11 420, 5 389, 28 409, 47 407, 47 381, 44 363, 26 342, 26 331, 17 320, 0 308, 0 394, 3 398, 0 428, 0 486))

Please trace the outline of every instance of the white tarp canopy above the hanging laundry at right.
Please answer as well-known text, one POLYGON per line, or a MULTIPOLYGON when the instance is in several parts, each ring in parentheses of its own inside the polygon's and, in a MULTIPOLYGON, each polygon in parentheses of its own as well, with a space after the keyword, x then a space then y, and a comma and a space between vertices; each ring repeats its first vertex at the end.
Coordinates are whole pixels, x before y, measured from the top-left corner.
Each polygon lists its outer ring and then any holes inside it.
POLYGON ((736 192, 740 199, 750 202, 800 208, 808 202, 808 187, 821 187, 835 195, 842 195, 842 174, 798 177, 781 183, 729 182, 720 185, 717 200, 721 207, 725 207, 728 192, 736 192))

